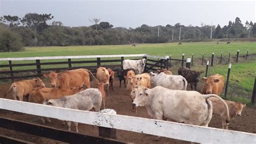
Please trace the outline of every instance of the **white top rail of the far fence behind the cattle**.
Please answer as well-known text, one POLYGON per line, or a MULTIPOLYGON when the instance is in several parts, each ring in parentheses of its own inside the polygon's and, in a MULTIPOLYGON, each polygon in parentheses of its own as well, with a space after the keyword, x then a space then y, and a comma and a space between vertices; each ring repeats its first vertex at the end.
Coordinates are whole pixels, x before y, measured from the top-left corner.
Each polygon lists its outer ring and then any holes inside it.
POLYGON ((116 57, 149 57, 167 59, 169 56, 159 57, 151 56, 148 54, 117 54, 117 55, 93 55, 93 56, 55 56, 55 57, 24 57, 24 58, 0 58, 0 61, 4 60, 43 60, 43 59, 79 59, 79 58, 116 58, 116 57))

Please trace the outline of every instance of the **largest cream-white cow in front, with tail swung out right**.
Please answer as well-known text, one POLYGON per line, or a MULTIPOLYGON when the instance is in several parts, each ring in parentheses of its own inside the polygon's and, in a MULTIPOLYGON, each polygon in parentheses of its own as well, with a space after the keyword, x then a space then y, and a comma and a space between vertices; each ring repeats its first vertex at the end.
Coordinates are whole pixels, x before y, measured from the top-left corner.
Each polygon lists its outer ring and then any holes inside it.
MULTIPOLYGON (((220 99, 228 112, 226 102, 215 94, 203 95, 197 91, 170 90, 161 86, 152 89, 139 86, 131 94, 136 95, 133 106, 145 106, 147 113, 158 120, 166 118, 174 122, 208 127, 212 119, 210 97, 220 99)), ((229 118, 228 113, 227 117, 229 118)))

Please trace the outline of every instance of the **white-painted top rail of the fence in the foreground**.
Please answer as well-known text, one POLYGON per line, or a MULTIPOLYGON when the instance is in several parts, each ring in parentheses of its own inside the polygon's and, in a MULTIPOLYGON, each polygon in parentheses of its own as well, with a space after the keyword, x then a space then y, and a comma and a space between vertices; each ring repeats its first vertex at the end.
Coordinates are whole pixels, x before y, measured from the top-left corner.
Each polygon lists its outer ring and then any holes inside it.
POLYGON ((200 143, 256 143, 256 134, 0 98, 0 109, 200 143))

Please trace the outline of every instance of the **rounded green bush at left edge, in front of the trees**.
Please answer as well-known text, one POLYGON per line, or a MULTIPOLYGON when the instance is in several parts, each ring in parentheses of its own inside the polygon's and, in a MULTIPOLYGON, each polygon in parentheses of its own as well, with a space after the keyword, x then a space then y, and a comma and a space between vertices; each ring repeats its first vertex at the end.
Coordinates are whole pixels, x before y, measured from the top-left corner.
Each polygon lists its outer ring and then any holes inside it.
POLYGON ((15 52, 24 51, 21 36, 9 29, 0 28, 0 51, 15 52))

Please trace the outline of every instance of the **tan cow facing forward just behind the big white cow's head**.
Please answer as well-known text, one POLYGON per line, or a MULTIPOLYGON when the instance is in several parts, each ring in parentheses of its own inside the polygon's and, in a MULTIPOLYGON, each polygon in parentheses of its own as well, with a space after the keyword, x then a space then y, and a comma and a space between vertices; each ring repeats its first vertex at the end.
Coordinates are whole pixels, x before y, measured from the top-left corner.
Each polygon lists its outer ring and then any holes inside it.
MULTIPOLYGON (((129 71, 127 72, 127 78, 129 79, 127 83, 127 92, 129 93, 132 102, 135 98, 135 95, 131 94, 132 90, 136 89, 140 85, 148 88, 151 87, 150 76, 147 73, 137 74, 136 76, 134 76, 134 72, 129 71)), ((132 106, 132 111, 134 113, 137 113, 137 107, 132 106)))

